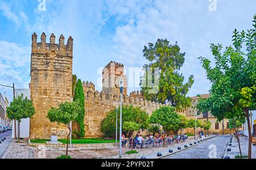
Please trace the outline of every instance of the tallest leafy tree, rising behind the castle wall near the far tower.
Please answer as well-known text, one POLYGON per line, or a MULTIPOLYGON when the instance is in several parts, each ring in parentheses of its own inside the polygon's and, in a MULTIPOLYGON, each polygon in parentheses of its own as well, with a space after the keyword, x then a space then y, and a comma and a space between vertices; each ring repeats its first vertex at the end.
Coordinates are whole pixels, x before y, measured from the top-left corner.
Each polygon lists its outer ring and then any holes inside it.
POLYGON ((190 107, 191 98, 186 95, 194 82, 193 75, 189 76, 187 83, 183 83, 184 76, 179 70, 185 61, 185 53, 180 52, 177 43, 171 45, 167 39, 158 39, 155 44, 144 46, 143 56, 149 61, 143 66, 146 71, 141 81, 146 99, 160 103, 168 101, 177 109, 190 107), (159 69, 156 73, 152 70, 151 74, 150 68, 159 69), (150 81, 154 81, 155 76, 159 78, 159 84, 152 85, 150 81), (152 88, 157 88, 158 92, 151 92, 152 88))

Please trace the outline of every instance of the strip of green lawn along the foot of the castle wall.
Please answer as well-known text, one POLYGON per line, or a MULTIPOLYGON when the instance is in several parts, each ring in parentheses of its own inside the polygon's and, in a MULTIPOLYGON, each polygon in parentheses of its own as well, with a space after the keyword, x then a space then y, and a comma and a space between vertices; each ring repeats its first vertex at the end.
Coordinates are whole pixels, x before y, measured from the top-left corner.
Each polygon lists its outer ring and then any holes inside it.
MULTIPOLYGON (((50 139, 31 139, 31 143, 46 143, 50 139)), ((61 143, 67 143, 67 139, 58 139, 61 143)), ((70 140, 68 140, 70 142, 70 140)), ((86 138, 86 139, 72 139, 72 143, 113 143, 115 140, 104 140, 104 138, 86 138)), ((118 141, 117 141, 118 142, 118 141)))

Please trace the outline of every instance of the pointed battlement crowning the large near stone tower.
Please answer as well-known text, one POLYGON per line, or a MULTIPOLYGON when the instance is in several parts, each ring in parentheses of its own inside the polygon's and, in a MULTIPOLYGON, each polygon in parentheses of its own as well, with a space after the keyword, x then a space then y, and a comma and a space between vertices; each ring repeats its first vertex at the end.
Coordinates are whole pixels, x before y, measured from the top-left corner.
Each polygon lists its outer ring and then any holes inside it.
POLYGON ((41 42, 37 42, 38 35, 32 35, 32 53, 56 53, 68 57, 73 56, 73 38, 69 36, 67 44, 65 45, 65 37, 60 35, 59 44, 55 44, 55 35, 52 33, 49 40, 46 42, 46 34, 43 32, 41 35, 41 42))

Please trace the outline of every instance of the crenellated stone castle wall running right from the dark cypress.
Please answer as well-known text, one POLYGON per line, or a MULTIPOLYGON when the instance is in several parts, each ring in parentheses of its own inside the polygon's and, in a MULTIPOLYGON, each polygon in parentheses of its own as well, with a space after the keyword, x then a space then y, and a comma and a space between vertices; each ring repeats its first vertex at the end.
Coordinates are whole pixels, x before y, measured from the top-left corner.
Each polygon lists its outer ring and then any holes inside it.
MULTIPOLYGON (((83 82, 85 94, 85 137, 102 137, 100 131, 101 121, 108 115, 109 111, 119 106, 120 97, 105 91, 98 92, 95 90, 92 82, 83 82)), ((163 104, 143 100, 142 97, 123 95, 123 105, 133 105, 141 107, 149 115, 155 109, 162 107, 163 104)))

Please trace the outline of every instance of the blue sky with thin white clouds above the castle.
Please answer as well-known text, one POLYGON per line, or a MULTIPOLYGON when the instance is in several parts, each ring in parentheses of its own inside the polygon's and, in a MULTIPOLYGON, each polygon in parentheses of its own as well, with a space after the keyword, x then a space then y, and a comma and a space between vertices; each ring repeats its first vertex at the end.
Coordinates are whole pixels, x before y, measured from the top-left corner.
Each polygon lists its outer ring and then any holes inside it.
MULTIPOLYGON (((74 39, 73 74, 96 84, 109 61, 126 67, 142 67, 143 46, 157 39, 176 41, 185 52, 181 73, 185 80, 195 76, 189 96, 206 94, 210 83, 202 69, 200 56, 212 59, 210 43, 231 45, 232 31, 251 28, 255 0, 217 0, 216 11, 210 11, 214 0, 138 0, 138 1, 53 1, 0 0, 0 84, 28 88, 30 82, 31 35, 38 41, 45 32, 56 40, 74 39), (210 2, 209 2, 210 1, 210 2), (44 7, 44 6, 43 6, 44 7)), ((135 90, 138 88, 129 88, 135 90)), ((12 98, 11 89, 0 87, 12 98)))

